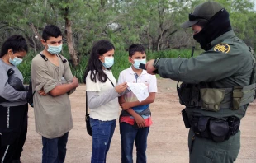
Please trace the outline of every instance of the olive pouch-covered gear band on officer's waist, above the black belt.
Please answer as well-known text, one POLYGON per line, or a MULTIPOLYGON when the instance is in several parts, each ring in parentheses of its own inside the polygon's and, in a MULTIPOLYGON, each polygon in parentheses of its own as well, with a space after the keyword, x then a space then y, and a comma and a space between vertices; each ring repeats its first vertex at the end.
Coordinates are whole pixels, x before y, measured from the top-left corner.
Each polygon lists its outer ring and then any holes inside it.
POLYGON ((221 109, 239 109, 240 106, 253 102, 256 98, 256 83, 249 86, 235 86, 234 88, 202 88, 193 90, 189 107, 201 107, 217 111, 221 109), (198 91, 198 92, 197 92, 198 91), (200 94, 200 95, 197 95, 200 94))

